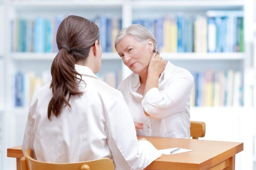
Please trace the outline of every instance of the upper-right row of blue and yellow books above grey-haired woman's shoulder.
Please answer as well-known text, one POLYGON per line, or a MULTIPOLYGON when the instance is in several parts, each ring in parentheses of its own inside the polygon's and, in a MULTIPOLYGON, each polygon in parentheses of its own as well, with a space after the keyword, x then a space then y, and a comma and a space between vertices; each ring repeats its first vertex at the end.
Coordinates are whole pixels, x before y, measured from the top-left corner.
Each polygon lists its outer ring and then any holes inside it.
POLYGON ((243 52, 242 11, 207 11, 206 16, 166 15, 136 19, 156 37, 161 52, 243 52))

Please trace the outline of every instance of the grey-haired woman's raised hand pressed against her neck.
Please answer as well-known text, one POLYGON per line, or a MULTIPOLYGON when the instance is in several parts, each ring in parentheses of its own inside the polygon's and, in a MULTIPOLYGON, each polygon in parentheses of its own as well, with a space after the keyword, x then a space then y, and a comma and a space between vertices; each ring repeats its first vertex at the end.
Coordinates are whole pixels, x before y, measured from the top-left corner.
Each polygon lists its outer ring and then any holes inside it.
POLYGON ((159 78, 163 73, 166 64, 167 62, 163 60, 162 57, 159 57, 158 54, 156 55, 156 53, 153 53, 148 65, 148 75, 153 74, 159 78))

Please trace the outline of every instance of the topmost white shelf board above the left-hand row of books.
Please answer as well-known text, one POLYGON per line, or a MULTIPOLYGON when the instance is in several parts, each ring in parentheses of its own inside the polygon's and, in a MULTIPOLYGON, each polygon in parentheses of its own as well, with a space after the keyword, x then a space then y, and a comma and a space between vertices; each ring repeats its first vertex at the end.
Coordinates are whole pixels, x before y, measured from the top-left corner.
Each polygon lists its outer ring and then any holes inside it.
POLYGON ((15 0, 12 1, 11 7, 15 9, 120 9, 122 7, 122 1, 119 0, 15 0))

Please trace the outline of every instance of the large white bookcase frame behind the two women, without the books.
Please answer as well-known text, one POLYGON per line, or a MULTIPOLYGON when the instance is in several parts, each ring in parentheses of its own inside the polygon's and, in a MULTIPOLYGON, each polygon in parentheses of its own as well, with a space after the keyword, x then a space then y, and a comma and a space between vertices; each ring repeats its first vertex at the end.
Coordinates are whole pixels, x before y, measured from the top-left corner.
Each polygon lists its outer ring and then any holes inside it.
MULTIPOLYGON (((255 62, 254 69, 256 66, 256 59, 252 59, 252 35, 253 30, 256 34, 256 22, 252 24, 249 19, 252 14, 252 0, 4 0, 1 3, 0 0, 0 30, 3 30, 3 36, 5 42, 0 42, 0 45, 4 46, 4 50, 0 49, 0 78, 3 83, 0 82, 0 89, 3 87, 5 93, 4 107, 2 110, 2 120, 6 122, 3 126, 9 127, 7 131, 0 131, 0 136, 3 136, 6 140, 1 145, 0 151, 5 151, 4 148, 11 147, 22 142, 24 133, 24 124, 26 123, 28 114, 28 105, 23 107, 14 106, 14 75, 18 71, 28 72, 35 71, 38 76, 42 72, 50 71, 51 63, 56 55, 56 52, 47 53, 35 53, 35 52, 13 52, 11 49, 11 33, 12 27, 10 22, 16 17, 23 19, 34 19, 36 17, 53 18, 57 15, 63 17, 70 14, 80 15, 88 19, 95 19, 97 16, 107 16, 109 18, 117 17, 122 19, 122 27, 127 27, 136 19, 157 19, 163 17, 166 14, 176 15, 179 13, 185 16, 205 16, 209 10, 242 10, 244 11, 244 52, 162 52, 160 56, 164 59, 169 60, 176 66, 180 66, 188 69, 191 72, 204 72, 207 69, 212 69, 214 72, 217 71, 228 71, 232 69, 234 71, 241 71, 243 76, 243 100, 244 106, 239 107, 191 107, 191 120, 202 120, 206 122, 207 132, 206 135, 213 133, 214 135, 208 135, 205 139, 209 140, 234 140, 237 142, 244 142, 244 148, 249 150, 252 148, 252 130, 247 131, 247 136, 243 139, 243 131, 241 129, 247 128, 246 120, 253 120, 254 111, 251 110, 252 106, 252 61, 255 62), (5 9, 4 13, 1 14, 1 9, 5 9), (6 14, 6 17, 4 17, 6 14), (4 23, 4 24, 2 24, 4 23), (5 26, 3 28, 3 25, 5 26), (2 27, 1 27, 2 26, 2 27), (1 44, 2 43, 2 44, 1 44), (1 77, 1 73, 6 76, 1 77), (249 82, 249 83, 248 83, 249 82), (12 87, 12 88, 10 88, 12 87), (243 117, 243 113, 247 113, 243 117), (207 113, 207 114, 205 114, 207 113), (207 116, 206 116, 207 115, 207 116), (228 121, 229 117, 232 117, 228 121), (219 123, 220 127, 225 128, 233 127, 235 131, 239 133, 231 133, 232 137, 228 137, 226 132, 214 133, 216 128, 216 122, 218 118, 221 118, 219 123), (212 120, 212 121, 211 121, 212 120), (213 121, 214 120, 214 121, 213 121), (234 120, 237 124, 232 123, 234 120), (241 121, 240 121, 241 120, 241 121), (242 122, 243 121, 243 122, 242 122), (23 130, 22 130, 23 129, 23 130), (11 134, 11 135, 10 135, 11 134), (249 141, 249 142, 248 142, 249 141)), ((256 41, 255 41, 256 42, 256 41)), ((256 44, 256 43, 255 43, 256 44)), ((256 45, 255 45, 256 47, 256 45)), ((255 58, 255 57, 254 57, 255 58)), ((127 77, 131 71, 123 65, 121 58, 116 52, 104 52, 102 55, 102 68, 101 73, 104 72, 121 72, 122 79, 127 77)), ((256 91, 256 90, 255 90, 256 91)), ((256 95, 254 95, 256 96, 256 95)), ((255 100, 254 100, 255 101, 255 100)), ((0 103, 1 99, 0 99, 0 103)), ((1 114, 0 114, 1 116, 1 114)), ((228 128, 232 130, 232 128, 228 128)), ((1 152, 0 152, 1 154, 1 152)), ((3 154, 2 154, 3 155, 3 154)), ((236 169, 252 169, 251 161, 253 155, 251 152, 242 152, 237 156, 236 169), (244 158, 242 158, 242 155, 244 158), (247 155, 247 156, 245 156, 247 155), (244 165, 249 165, 245 167, 244 165), (242 168, 243 167, 243 168, 242 168), (245 167, 245 168, 244 168, 245 167)), ((12 160, 0 156, 1 164, 0 169, 9 169, 9 163, 12 160), (2 166, 2 167, 1 167, 2 166)))

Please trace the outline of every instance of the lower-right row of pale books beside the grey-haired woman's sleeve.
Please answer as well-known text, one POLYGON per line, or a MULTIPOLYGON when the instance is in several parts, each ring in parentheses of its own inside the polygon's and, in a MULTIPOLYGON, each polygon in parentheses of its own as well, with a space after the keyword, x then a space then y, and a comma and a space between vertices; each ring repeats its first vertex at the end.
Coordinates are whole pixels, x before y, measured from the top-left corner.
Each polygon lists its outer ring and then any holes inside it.
POLYGON ((243 75, 241 71, 206 70, 193 73, 195 84, 191 106, 242 106, 243 75))

